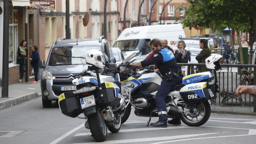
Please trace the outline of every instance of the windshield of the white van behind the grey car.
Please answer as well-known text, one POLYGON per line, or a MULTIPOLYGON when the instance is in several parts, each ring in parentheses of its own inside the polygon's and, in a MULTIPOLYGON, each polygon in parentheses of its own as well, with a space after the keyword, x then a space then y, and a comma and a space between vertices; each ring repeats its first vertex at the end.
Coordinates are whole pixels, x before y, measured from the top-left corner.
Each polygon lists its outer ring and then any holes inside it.
POLYGON ((118 47, 121 51, 138 51, 143 41, 144 39, 120 40, 115 41, 113 47, 118 47))

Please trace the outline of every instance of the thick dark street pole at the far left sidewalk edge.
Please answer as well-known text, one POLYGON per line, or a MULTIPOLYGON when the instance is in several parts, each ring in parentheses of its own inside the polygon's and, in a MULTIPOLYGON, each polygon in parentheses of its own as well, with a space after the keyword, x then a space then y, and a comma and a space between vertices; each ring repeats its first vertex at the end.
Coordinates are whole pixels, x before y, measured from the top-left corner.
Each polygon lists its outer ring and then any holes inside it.
POLYGON ((9 0, 3 2, 3 75, 2 98, 8 98, 9 87, 9 0))

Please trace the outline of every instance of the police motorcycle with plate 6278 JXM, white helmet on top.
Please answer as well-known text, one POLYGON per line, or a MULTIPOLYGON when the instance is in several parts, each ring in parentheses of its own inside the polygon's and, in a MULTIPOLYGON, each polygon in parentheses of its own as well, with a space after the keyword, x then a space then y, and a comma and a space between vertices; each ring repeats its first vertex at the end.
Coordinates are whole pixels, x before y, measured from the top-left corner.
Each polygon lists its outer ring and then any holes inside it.
MULTIPOLYGON (((98 49, 91 49, 84 57, 85 63, 92 66, 73 76, 75 79, 72 82, 76 84, 77 90, 62 93, 58 104, 66 116, 81 118, 79 115, 83 113, 83 119, 87 119, 85 127, 90 129, 96 141, 102 142, 107 137, 107 128, 112 133, 120 130, 121 115, 126 108, 125 98, 120 93, 118 73, 112 73, 113 77, 99 75, 99 70, 108 71, 109 67, 115 67, 107 63, 106 54, 98 49)), ((129 91, 128 88, 127 90, 129 91)))

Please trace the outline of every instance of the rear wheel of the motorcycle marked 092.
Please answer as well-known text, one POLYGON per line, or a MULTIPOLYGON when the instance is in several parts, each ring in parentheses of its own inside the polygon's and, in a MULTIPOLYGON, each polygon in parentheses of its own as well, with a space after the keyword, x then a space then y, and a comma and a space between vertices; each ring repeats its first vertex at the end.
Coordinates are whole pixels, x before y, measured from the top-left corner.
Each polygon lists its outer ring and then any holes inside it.
POLYGON ((186 125, 191 127, 199 127, 209 119, 211 115, 211 106, 208 101, 193 104, 192 107, 186 107, 195 111, 194 114, 179 113, 179 117, 186 125))

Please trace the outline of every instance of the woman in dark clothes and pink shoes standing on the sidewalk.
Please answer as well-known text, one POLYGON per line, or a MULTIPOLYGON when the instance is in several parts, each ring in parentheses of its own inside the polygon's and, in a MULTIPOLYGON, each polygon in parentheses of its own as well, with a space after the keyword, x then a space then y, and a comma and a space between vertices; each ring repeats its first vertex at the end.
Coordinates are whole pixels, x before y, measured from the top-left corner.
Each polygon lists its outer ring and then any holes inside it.
POLYGON ((36 45, 33 45, 32 47, 32 55, 29 58, 29 61, 31 61, 31 65, 34 69, 35 74, 35 80, 31 81, 31 83, 38 83, 38 61, 40 60, 40 56, 38 53, 38 47, 36 45))

